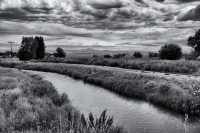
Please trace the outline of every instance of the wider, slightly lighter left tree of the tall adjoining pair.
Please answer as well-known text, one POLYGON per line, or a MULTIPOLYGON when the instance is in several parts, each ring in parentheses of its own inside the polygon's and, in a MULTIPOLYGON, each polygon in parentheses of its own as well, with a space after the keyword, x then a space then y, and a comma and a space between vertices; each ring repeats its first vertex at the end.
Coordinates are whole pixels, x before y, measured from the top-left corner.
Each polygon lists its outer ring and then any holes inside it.
POLYGON ((23 37, 18 51, 19 60, 31 60, 36 58, 38 42, 33 37, 23 37))

